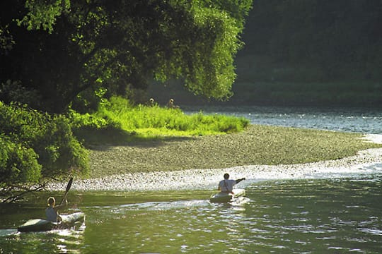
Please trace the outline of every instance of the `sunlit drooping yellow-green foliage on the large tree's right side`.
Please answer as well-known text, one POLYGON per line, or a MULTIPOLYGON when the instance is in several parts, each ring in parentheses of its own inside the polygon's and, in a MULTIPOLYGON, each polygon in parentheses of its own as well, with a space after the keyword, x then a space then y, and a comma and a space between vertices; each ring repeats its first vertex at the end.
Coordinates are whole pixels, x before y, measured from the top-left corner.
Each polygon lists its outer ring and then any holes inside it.
POLYGON ((187 30, 186 36, 192 40, 185 37, 190 40, 185 41, 186 58, 176 56, 178 72, 175 75, 185 77, 185 86, 195 94, 215 99, 231 97, 231 85, 236 78, 233 59, 243 45, 238 34, 243 30, 243 17, 250 4, 251 1, 240 4, 233 4, 233 1, 192 2, 194 28, 183 30, 187 30), (199 40, 195 41, 195 37, 199 40), (195 63, 190 65, 190 59, 195 63))

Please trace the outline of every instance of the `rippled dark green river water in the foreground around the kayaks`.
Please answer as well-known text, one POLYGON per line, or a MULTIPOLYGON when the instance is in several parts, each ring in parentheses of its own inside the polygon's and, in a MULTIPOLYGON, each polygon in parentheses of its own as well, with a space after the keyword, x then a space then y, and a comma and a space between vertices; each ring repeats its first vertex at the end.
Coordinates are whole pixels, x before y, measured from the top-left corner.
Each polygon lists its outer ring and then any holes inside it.
POLYGON ((71 193, 86 226, 16 233, 43 216, 45 193, 1 205, 0 253, 382 253, 381 174, 246 190, 233 204, 209 203, 209 191, 71 193))

